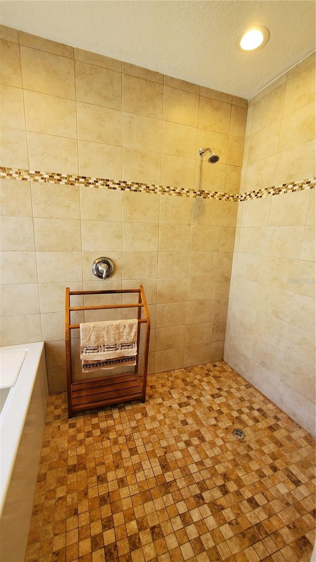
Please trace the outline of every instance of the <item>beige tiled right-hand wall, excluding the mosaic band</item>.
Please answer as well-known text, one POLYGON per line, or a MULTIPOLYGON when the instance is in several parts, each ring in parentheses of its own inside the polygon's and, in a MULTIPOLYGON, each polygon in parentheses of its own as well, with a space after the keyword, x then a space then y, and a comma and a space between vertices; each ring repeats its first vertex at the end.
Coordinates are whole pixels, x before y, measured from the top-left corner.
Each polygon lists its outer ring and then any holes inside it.
MULTIPOLYGON (((315 57, 249 102, 241 189, 315 175, 315 57)), ((224 359, 315 434, 315 190, 238 203, 224 359)))

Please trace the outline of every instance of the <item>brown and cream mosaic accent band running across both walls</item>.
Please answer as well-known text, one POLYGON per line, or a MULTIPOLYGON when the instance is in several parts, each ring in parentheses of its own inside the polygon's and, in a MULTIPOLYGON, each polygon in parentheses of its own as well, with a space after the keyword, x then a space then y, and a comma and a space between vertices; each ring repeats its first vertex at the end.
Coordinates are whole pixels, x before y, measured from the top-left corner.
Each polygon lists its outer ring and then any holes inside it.
POLYGON ((170 187, 169 185, 155 185, 139 182, 126 182, 125 180, 112 180, 103 178, 90 178, 72 174, 47 173, 33 170, 20 170, 0 166, 0 178, 17 179, 22 182, 39 182, 54 185, 73 185, 75 187, 95 187, 99 189, 119 189, 138 193, 153 193, 156 195, 171 195, 175 197, 192 197, 199 199, 215 199, 218 201, 249 201, 279 195, 281 193, 314 189, 316 178, 309 178, 301 182, 283 183, 264 189, 255 189, 244 193, 224 193, 220 191, 204 191, 203 189, 187 189, 184 187, 170 187))

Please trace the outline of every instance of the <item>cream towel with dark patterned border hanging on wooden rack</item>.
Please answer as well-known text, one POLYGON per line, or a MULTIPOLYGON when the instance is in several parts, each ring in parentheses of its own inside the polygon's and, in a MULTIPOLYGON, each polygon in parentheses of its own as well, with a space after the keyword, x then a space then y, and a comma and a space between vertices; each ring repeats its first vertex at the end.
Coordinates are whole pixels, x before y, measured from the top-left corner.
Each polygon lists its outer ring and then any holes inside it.
POLYGON ((80 359, 83 370, 136 364, 138 320, 80 324, 80 359))

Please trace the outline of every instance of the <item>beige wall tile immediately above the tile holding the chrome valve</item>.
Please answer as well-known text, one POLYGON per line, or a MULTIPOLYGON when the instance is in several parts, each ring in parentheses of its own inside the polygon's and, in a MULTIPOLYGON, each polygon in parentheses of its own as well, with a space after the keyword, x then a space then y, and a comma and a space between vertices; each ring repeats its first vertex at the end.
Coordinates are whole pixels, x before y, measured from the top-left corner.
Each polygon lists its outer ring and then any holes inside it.
POLYGON ((83 220, 82 249, 89 251, 119 252, 122 250, 122 223, 101 220, 83 220))

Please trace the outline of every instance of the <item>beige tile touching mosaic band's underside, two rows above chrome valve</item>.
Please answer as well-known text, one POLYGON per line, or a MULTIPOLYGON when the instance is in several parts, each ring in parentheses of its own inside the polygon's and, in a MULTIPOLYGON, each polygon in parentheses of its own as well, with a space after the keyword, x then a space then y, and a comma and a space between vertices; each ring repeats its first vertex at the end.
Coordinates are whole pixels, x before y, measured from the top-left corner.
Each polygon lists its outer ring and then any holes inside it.
POLYGON ((122 193, 94 187, 80 187, 82 220, 122 220, 122 193))

